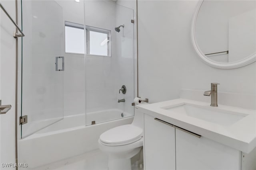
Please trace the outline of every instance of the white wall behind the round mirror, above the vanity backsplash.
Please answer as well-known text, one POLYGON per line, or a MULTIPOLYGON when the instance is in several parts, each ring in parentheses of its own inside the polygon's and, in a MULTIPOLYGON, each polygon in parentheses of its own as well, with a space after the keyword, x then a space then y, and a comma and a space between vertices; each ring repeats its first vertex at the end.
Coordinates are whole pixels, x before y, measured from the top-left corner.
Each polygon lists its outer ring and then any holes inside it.
POLYGON ((181 88, 256 94, 256 63, 222 70, 200 60, 191 40, 198 1, 138 1, 139 95, 150 102, 179 98, 181 88))

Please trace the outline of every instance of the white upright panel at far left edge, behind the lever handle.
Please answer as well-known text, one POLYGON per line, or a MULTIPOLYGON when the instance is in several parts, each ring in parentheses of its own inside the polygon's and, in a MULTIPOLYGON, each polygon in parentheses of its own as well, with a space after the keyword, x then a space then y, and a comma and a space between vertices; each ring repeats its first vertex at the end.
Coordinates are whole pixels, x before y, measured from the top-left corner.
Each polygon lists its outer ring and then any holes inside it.
MULTIPOLYGON (((15 1, 1 0, 12 18, 16 18, 15 1)), ((0 9, 0 99, 2 105, 11 104, 12 109, 0 115, 0 163, 15 163, 15 75, 16 39, 15 26, 0 9)), ((14 170, 15 168, 0 169, 14 170)))

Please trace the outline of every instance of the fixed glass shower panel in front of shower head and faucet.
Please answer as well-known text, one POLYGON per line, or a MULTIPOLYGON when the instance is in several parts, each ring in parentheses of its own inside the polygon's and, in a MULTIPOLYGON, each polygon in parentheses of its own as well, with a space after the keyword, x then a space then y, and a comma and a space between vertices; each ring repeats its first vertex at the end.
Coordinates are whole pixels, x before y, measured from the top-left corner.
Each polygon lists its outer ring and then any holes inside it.
POLYGON ((134 12, 106 0, 86 0, 84 9, 86 125, 131 117, 134 115, 134 12), (94 53, 92 48, 96 49, 94 53), (125 93, 120 91, 123 86, 125 93))

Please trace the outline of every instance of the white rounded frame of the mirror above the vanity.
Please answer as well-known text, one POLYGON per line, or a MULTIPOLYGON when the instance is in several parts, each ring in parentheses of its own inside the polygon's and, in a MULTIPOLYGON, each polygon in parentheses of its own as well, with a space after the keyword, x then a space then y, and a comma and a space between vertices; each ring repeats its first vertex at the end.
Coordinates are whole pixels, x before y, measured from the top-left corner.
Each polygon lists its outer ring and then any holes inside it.
POLYGON ((242 66, 246 66, 248 64, 251 64, 253 62, 256 61, 256 53, 251 55, 251 56, 248 56, 246 59, 243 59, 241 61, 237 61, 237 62, 234 62, 234 63, 219 63, 219 62, 216 62, 214 60, 211 60, 209 59, 208 57, 206 57, 204 55, 204 53, 201 51, 201 49, 199 48, 198 46, 198 43, 196 41, 196 20, 197 20, 197 17, 198 17, 198 13, 200 11, 200 8, 202 6, 202 3, 204 2, 204 0, 200 0, 198 2, 198 7, 196 8, 196 13, 194 14, 194 17, 193 17, 193 21, 192 21, 192 43, 194 45, 194 48, 196 50, 196 52, 198 53, 198 55, 200 56, 200 59, 214 67, 214 68, 220 68, 220 69, 232 69, 232 68, 239 68, 239 67, 242 67, 242 66))

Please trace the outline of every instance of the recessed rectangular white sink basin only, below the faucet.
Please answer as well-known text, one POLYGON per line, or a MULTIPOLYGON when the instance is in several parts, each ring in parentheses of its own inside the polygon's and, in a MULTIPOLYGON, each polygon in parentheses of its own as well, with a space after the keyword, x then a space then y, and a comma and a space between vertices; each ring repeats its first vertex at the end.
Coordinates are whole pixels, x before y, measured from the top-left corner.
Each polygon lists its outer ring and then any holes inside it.
POLYGON ((202 106, 198 107, 190 104, 165 107, 163 109, 224 126, 232 125, 247 116, 244 113, 226 111, 214 107, 203 108, 202 106))

